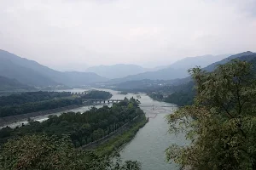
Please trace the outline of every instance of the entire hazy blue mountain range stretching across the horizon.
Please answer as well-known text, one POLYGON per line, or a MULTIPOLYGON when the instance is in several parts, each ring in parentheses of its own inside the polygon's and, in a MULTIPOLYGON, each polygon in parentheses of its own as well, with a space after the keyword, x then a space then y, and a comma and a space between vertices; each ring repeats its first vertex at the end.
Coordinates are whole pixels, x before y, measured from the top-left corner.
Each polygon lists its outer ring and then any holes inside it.
MULTIPOLYGON (((121 82, 137 82, 142 80, 169 81, 188 77, 188 69, 200 65, 211 71, 216 65, 224 64, 230 59, 253 54, 244 52, 231 55, 203 55, 177 60, 172 65, 160 65, 156 68, 143 68, 140 65, 99 65, 90 67, 86 72, 55 71, 38 62, 21 58, 15 54, 0 50, 0 76, 4 82, 15 84, 15 87, 78 87, 95 83, 118 84, 121 82), (13 82, 13 83, 10 83, 13 82)), ((146 81, 148 83, 148 81, 146 81)), ((177 82, 177 81, 172 81, 177 82)), ((7 87, 7 86, 6 86, 7 87)), ((9 87, 9 89, 11 89, 9 87)))

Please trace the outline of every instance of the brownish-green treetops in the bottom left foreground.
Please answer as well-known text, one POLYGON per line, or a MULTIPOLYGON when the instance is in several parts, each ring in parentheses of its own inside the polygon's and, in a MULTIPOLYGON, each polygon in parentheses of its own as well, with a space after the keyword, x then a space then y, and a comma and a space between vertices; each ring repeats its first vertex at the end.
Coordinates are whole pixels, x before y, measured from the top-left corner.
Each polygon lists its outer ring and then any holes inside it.
POLYGON ((94 152, 77 150, 68 138, 44 135, 11 139, 0 152, 2 170, 139 170, 137 161, 121 162, 114 156, 96 156, 94 152), (116 160, 116 161, 113 161, 116 160))

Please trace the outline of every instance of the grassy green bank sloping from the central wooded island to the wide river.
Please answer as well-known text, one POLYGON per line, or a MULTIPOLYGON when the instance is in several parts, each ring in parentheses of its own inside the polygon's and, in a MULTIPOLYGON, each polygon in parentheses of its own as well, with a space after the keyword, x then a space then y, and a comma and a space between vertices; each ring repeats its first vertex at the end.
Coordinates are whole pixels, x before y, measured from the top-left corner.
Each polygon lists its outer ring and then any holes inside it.
POLYGON ((97 155, 110 155, 114 150, 121 150, 123 146, 131 141, 140 128, 144 127, 148 122, 145 115, 139 116, 135 122, 128 124, 122 133, 116 133, 108 140, 96 147, 97 155))

